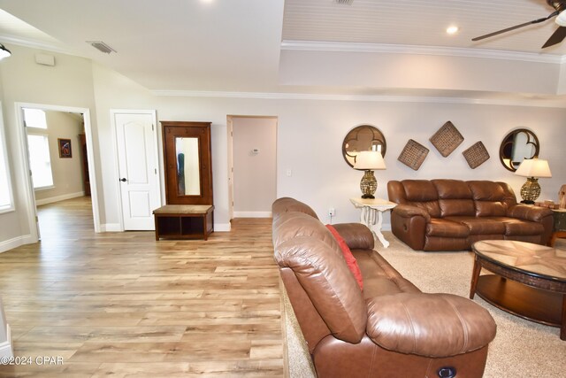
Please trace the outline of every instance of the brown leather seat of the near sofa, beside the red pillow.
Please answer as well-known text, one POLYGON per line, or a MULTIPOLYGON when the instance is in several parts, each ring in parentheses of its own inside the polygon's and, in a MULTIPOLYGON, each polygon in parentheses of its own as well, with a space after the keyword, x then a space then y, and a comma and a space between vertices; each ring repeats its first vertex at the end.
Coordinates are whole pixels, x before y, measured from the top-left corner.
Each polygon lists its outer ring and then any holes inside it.
POLYGON ((352 250, 363 276, 363 297, 371 298, 398 293, 420 293, 377 251, 352 250))

